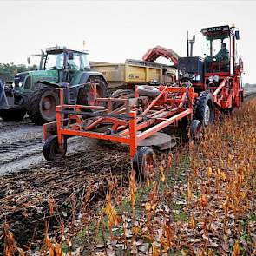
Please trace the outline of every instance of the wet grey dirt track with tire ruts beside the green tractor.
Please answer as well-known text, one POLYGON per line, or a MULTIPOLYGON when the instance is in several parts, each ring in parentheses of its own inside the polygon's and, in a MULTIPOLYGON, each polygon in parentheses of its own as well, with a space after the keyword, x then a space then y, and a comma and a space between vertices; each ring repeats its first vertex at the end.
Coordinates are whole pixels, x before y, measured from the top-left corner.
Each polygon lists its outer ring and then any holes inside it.
MULTIPOLYGON (((68 154, 86 151, 94 143, 86 138, 72 138, 68 154)), ((42 126, 35 125, 28 118, 22 122, 0 119, 0 175, 44 161, 42 149, 42 126)))

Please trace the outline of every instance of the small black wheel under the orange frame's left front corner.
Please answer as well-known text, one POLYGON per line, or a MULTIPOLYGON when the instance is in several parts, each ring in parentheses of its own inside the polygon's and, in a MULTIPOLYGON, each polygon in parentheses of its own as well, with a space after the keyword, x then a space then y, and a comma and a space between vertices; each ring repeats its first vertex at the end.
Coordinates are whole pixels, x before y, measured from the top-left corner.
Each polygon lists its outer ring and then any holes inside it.
POLYGON ((67 140, 64 140, 63 149, 58 143, 58 136, 50 136, 43 145, 43 156, 47 161, 61 159, 67 153, 67 140))

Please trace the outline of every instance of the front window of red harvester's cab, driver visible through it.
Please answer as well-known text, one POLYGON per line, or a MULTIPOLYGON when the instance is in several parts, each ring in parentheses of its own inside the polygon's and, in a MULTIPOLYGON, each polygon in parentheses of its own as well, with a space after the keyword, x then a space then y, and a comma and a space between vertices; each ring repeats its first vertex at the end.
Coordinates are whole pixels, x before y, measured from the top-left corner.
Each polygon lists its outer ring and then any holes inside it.
POLYGON ((229 37, 207 38, 205 66, 207 73, 229 72, 229 37))

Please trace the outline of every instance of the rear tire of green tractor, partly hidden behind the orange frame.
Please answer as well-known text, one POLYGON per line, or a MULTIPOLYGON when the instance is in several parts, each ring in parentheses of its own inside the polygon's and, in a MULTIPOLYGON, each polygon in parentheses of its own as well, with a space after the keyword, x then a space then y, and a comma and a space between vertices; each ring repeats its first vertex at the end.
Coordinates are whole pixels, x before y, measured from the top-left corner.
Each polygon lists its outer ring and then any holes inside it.
MULTIPOLYGON (((97 96, 100 98, 105 98, 108 96, 108 83, 99 75, 91 75, 86 83, 96 83, 97 84, 97 96)), ((81 89, 79 89, 79 93, 77 96, 76 103, 79 105, 92 105, 94 99, 92 95, 89 93, 90 86, 85 85, 81 89)), ((103 103, 101 103, 103 105, 103 103)))

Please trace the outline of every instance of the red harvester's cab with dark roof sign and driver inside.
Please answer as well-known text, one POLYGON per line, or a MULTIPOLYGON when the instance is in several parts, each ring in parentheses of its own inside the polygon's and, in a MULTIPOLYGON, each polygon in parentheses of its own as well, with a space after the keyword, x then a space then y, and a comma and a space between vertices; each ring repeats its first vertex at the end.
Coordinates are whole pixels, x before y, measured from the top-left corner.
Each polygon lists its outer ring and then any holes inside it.
POLYGON ((239 30, 234 26, 220 26, 202 29, 201 33, 207 41, 205 78, 213 82, 213 76, 217 80, 217 76, 221 79, 227 75, 234 75, 237 61, 235 41, 240 39, 239 30))

